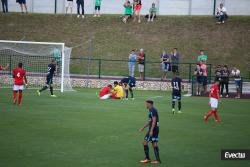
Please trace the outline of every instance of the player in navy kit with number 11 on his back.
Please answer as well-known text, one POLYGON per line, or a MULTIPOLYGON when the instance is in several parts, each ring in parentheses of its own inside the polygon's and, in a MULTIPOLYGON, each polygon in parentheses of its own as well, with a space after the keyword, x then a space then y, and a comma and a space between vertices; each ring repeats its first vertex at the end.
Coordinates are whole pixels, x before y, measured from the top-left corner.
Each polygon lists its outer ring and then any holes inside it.
POLYGON ((178 101, 178 113, 181 112, 181 83, 182 79, 179 77, 179 73, 176 72, 174 78, 171 81, 172 85, 172 112, 175 114, 175 102, 178 101))

